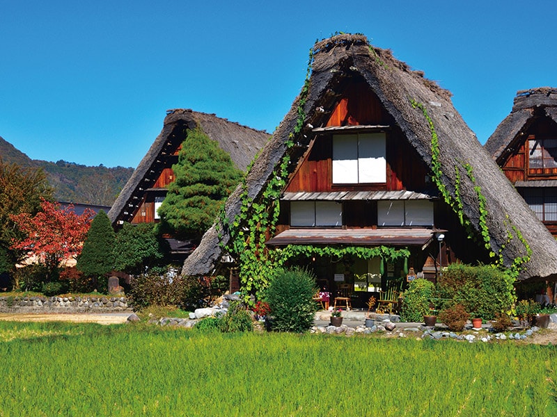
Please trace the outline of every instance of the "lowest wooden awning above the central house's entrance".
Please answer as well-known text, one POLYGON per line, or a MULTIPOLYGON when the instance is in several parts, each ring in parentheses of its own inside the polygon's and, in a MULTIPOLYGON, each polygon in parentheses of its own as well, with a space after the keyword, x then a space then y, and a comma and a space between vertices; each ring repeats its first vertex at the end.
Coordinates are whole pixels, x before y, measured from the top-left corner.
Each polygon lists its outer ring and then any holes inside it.
POLYGON ((437 229, 289 229, 265 243, 280 245, 360 245, 360 246, 424 246, 435 237, 437 229))

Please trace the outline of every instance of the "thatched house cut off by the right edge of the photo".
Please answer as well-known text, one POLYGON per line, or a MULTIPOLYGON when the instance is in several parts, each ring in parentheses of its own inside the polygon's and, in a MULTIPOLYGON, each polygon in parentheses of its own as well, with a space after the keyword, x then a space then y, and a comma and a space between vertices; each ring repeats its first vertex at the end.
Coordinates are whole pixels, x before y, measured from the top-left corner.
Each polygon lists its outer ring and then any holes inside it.
POLYGON ((484 147, 557 236, 557 88, 517 92, 510 115, 484 147))

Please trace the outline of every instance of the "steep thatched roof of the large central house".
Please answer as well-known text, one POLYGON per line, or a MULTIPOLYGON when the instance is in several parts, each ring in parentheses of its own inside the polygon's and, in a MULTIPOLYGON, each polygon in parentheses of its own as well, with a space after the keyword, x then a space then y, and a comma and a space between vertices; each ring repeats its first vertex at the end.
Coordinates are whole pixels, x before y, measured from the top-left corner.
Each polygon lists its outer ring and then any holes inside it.
MULTIPOLYGON (((425 79, 422 72, 412 71, 408 65, 396 60, 391 51, 370 47, 363 35, 338 35, 317 42, 314 51, 313 71, 304 106, 306 130, 295 140, 307 143, 309 138, 304 138, 304 135, 311 136, 313 126, 324 126, 338 102, 338 92, 343 83, 350 81, 353 76, 359 76, 379 97, 386 112, 400 127, 418 155, 431 166, 432 132, 421 109, 412 106, 411 101, 417 101, 427 110, 439 138, 441 181, 451 195, 455 195, 455 166, 469 163, 473 167, 476 185, 481 187, 481 193, 487 201, 487 226, 494 252, 502 250, 507 265, 517 256, 526 254, 524 245, 518 238, 508 241, 508 230, 515 226, 533 251, 531 261, 526 265, 521 279, 549 277, 557 273, 556 241, 535 218, 462 120, 450 101, 450 92, 425 79), (505 218, 507 214, 508 218, 505 218)), ((287 150, 285 142, 295 129, 299 98, 295 99, 272 140, 262 149, 256 163, 247 174, 246 190, 253 199, 260 196, 272 176, 274 167, 287 150)), ((474 190, 475 184, 466 177, 466 173, 461 174, 461 181, 460 193, 464 203, 464 215, 470 220, 472 227, 480 231, 480 211, 478 196, 474 190)), ((238 187, 226 202, 226 218, 229 222, 240 213, 241 195, 242 188, 238 187)), ((212 272, 221 256, 217 230, 222 234, 222 243, 228 243, 230 236, 226 229, 209 229, 198 248, 186 259, 182 274, 204 275, 212 272)))

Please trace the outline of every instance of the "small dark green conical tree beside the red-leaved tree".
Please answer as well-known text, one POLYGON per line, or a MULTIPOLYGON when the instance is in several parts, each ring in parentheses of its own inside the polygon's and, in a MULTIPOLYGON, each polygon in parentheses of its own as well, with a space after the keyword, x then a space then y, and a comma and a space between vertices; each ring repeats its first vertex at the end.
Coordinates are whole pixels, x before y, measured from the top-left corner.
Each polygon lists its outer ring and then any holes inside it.
POLYGON ((99 211, 87 232, 81 255, 77 259, 77 269, 88 277, 103 277, 114 268, 114 246, 116 234, 109 216, 99 211))

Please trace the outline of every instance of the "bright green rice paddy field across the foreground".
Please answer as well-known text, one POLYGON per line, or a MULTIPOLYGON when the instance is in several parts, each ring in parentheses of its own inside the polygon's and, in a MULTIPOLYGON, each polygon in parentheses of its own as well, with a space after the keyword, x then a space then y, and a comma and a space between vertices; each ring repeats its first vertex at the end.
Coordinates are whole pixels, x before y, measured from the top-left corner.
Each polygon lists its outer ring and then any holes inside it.
POLYGON ((554 346, 0 322, 0 416, 556 416, 554 346))

